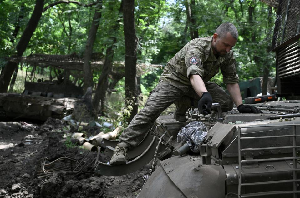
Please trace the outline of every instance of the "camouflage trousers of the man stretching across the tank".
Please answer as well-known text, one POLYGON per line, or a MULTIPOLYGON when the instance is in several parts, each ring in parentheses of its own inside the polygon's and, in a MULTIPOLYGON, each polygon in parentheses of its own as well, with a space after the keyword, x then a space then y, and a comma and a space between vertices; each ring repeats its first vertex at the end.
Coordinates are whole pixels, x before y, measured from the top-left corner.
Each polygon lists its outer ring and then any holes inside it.
MULTIPOLYGON (((211 94, 213 103, 219 103, 223 112, 230 111, 233 108, 231 97, 220 86, 214 82, 205 82, 205 86, 211 94)), ((144 108, 134 116, 129 126, 121 134, 120 142, 128 144, 130 148, 137 146, 161 112, 178 99, 188 103, 182 105, 191 106, 191 103, 195 103, 193 106, 196 107, 200 97, 193 87, 188 92, 184 92, 169 83, 160 81, 150 92, 144 108), (186 100, 187 98, 188 100, 186 100), (193 98, 194 102, 191 102, 193 100, 190 100, 190 98, 193 98)))

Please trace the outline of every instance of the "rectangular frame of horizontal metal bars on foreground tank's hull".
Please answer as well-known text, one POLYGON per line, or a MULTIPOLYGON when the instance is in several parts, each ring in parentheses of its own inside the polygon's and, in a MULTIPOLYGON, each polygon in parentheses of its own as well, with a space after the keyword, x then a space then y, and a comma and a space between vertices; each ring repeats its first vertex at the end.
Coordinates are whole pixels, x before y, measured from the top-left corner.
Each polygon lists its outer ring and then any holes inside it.
MULTIPOLYGON (((299 190, 297 190, 297 182, 300 181, 300 179, 297 178, 297 171, 300 171, 300 167, 297 167, 297 160, 300 159, 300 156, 297 156, 297 151, 296 149, 300 147, 300 145, 297 145, 296 138, 300 137, 300 135, 297 135, 296 133, 296 126, 300 126, 300 124, 286 124, 286 125, 277 125, 275 127, 282 127, 282 126, 288 126, 291 127, 289 130, 290 134, 288 135, 281 135, 281 136, 260 136, 260 137, 245 137, 245 134, 241 134, 241 130, 243 128, 261 128, 261 127, 270 127, 270 126, 245 126, 245 127, 238 127, 238 148, 239 148, 239 186, 238 186, 238 196, 243 198, 243 197, 270 197, 270 196, 278 196, 282 195, 282 197, 287 197, 287 195, 291 197, 297 197, 297 193, 300 193, 299 190), (267 138, 283 138, 283 137, 289 137, 292 138, 292 146, 277 146, 277 147, 264 147, 264 148, 242 148, 241 145, 247 145, 245 142, 247 140, 253 140, 255 139, 256 141, 263 141, 263 139, 267 138), (263 158, 263 159, 249 159, 245 160, 242 159, 242 152, 245 151, 254 151, 254 150, 271 150, 271 149, 292 149, 292 156, 289 157, 278 157, 276 158, 263 158), (280 169, 280 170, 264 170, 264 171, 252 171, 252 172, 245 172, 243 171, 243 165, 247 163, 260 163, 260 162, 272 162, 272 161, 285 161, 285 160, 292 160, 293 161, 293 167, 289 169, 280 169), (259 182, 247 182, 245 179, 245 176, 249 176, 250 174, 270 174, 274 172, 291 172, 293 173, 293 179, 285 179, 285 180, 276 180, 276 181, 259 181, 259 182), (247 187, 252 187, 252 186, 257 186, 257 185, 274 185, 274 184, 291 184, 290 189, 275 189, 274 191, 251 191, 251 193, 244 193, 247 190, 247 187)), ((299 129, 299 127, 298 127, 299 129)), ((278 145, 280 145, 280 142, 278 142, 278 145)), ((253 189, 253 188, 252 188, 253 189)))

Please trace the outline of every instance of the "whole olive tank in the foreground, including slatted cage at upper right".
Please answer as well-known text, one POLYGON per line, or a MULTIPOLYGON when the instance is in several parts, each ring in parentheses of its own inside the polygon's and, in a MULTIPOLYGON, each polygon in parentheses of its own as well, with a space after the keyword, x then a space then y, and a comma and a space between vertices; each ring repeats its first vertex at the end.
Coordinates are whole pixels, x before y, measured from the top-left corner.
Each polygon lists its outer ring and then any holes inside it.
MULTIPOLYGON (((282 16, 272 43, 277 96, 295 97, 300 95, 300 2, 279 1, 277 10, 282 16)), ((173 115, 160 116, 144 140, 128 152, 126 165, 99 162, 95 171, 125 175, 159 159, 139 198, 300 197, 300 100, 251 105, 263 113, 242 114, 236 109, 222 113, 217 108, 210 118, 191 113, 186 123, 173 115), (208 130, 199 153, 187 151, 184 142, 176 140, 191 121, 205 123, 208 130)), ((101 143, 111 156, 117 142, 101 143)))

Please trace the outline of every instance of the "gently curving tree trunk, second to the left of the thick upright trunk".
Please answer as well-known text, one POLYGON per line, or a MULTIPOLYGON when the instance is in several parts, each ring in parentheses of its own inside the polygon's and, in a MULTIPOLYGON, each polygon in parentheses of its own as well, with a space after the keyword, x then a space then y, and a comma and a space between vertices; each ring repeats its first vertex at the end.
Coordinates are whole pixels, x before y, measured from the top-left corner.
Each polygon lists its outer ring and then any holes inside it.
POLYGON ((91 57, 94 47, 94 42, 96 39, 96 33, 99 27, 99 19, 101 18, 102 9, 102 1, 97 0, 97 6, 95 9, 93 22, 91 28, 89 29, 89 36, 86 42, 85 51, 84 51, 84 62, 83 62, 83 72, 84 72, 84 92, 87 90, 88 87, 93 86, 93 79, 92 79, 92 70, 91 70, 91 57))

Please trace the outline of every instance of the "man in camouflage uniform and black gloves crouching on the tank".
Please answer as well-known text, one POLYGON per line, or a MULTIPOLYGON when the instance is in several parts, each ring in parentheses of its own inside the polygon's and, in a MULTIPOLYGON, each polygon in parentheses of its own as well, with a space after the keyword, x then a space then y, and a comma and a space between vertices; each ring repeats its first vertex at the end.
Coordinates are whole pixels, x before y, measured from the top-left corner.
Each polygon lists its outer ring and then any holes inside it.
POLYGON ((121 134, 120 143, 110 160, 111 165, 126 163, 127 149, 142 141, 160 113, 173 102, 176 105, 174 118, 180 122, 186 121, 186 111, 194 104, 198 104, 198 110, 203 115, 211 113, 212 102, 219 103, 223 112, 230 111, 233 102, 241 113, 262 112, 253 106, 242 104, 236 62, 231 51, 237 37, 236 27, 229 22, 223 23, 213 36, 188 42, 167 63, 144 108, 121 134), (230 96, 216 83, 209 81, 220 68, 230 96), (207 105, 206 110, 202 108, 204 105, 207 105))

